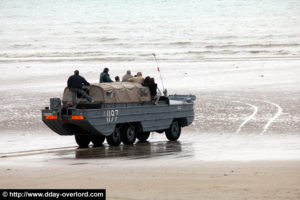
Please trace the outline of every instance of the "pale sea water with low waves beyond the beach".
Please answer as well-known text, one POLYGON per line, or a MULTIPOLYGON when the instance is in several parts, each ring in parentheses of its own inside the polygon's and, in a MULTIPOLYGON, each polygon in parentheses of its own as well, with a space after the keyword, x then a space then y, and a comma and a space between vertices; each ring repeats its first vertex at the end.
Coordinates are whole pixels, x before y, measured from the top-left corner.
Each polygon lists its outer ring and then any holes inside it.
POLYGON ((1 0, 0 63, 299 59, 299 0, 1 0))

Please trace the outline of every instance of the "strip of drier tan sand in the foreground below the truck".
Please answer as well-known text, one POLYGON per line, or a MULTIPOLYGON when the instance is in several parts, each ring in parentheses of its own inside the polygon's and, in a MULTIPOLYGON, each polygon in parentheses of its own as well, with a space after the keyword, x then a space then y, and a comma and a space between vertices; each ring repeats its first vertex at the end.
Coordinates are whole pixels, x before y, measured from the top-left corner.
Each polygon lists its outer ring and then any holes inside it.
MULTIPOLYGON (((124 162, 124 161, 123 161, 124 162)), ((299 161, 0 167, 1 188, 105 188, 107 199, 299 199, 299 161), (151 166, 152 165, 152 166, 151 166)), ((147 161, 146 161, 147 163, 147 161)))

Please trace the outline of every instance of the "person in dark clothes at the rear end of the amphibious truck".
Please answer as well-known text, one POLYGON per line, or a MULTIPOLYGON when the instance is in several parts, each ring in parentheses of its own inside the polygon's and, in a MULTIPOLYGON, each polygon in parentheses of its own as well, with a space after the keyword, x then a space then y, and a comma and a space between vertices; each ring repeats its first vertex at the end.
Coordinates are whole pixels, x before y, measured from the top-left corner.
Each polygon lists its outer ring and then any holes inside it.
POLYGON ((74 75, 70 76, 68 79, 68 88, 72 92, 73 107, 76 106, 77 104, 76 102, 77 93, 81 94, 89 102, 94 102, 92 98, 82 90, 82 85, 90 85, 90 83, 87 82, 85 78, 79 75, 78 70, 75 70, 74 75))

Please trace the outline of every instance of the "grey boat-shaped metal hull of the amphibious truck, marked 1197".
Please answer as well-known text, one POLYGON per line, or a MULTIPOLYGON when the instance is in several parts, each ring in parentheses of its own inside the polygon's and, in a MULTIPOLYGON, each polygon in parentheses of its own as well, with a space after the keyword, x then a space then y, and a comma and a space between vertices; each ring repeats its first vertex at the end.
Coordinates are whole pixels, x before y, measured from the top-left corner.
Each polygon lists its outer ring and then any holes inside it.
POLYGON ((174 120, 188 126, 194 120, 193 102, 172 104, 112 104, 98 109, 45 109, 42 110, 43 122, 59 135, 111 135, 115 128, 124 124, 135 124, 143 132, 164 131, 174 120), (46 116, 57 116, 47 119, 46 116), (76 119, 77 116, 83 119, 76 119))

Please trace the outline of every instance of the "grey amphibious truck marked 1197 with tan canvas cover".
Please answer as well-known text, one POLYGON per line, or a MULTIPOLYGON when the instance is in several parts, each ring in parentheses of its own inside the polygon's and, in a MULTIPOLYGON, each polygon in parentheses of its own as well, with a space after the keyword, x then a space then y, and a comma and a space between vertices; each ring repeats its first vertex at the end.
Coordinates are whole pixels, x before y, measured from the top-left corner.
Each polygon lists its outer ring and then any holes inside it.
POLYGON ((72 106, 72 94, 65 88, 63 99, 51 98, 50 107, 42 110, 43 122, 59 135, 74 135, 81 147, 110 146, 121 142, 133 144, 136 138, 146 141, 150 132, 165 132, 170 141, 176 141, 181 128, 194 120, 194 95, 162 95, 153 104, 148 87, 139 83, 115 82, 84 86, 94 100, 89 103, 77 96, 72 106))

